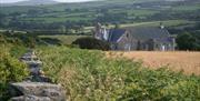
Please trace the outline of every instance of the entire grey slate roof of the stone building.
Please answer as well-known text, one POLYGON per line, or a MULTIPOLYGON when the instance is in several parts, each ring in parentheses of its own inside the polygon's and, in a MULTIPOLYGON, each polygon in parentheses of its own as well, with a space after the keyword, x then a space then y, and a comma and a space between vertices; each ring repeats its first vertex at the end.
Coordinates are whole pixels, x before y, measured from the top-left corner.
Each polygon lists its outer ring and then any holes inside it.
POLYGON ((131 37, 137 40, 147 41, 156 39, 159 42, 171 42, 170 33, 164 28, 159 27, 131 27, 124 29, 110 29, 109 42, 117 42, 124 33, 129 31, 131 37))

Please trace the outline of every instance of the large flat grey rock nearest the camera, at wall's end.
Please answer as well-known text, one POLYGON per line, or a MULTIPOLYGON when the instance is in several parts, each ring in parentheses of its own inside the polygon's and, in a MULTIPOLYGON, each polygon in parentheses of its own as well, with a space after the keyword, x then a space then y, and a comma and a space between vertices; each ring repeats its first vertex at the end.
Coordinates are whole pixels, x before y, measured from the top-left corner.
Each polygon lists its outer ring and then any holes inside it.
POLYGON ((13 97, 11 101, 66 101, 63 89, 58 84, 51 83, 11 83, 10 94, 13 97), (19 93, 21 93, 20 97, 19 93))

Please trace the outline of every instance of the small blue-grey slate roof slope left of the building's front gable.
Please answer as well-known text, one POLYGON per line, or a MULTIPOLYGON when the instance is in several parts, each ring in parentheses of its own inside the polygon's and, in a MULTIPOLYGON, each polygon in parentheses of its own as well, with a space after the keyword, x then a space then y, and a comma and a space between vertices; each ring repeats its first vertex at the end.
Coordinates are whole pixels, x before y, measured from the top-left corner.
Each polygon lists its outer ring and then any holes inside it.
POLYGON ((110 29, 109 42, 117 42, 124 33, 126 29, 110 29))

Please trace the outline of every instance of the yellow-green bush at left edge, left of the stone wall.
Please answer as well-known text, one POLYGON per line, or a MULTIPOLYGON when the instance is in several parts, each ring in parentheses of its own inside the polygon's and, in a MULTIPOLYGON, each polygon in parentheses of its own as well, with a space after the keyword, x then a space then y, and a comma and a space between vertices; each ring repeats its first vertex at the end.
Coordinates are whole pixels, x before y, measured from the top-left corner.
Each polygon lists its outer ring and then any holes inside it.
POLYGON ((0 100, 8 99, 8 84, 9 82, 18 82, 28 75, 26 64, 21 63, 18 59, 9 53, 8 46, 0 44, 0 100))

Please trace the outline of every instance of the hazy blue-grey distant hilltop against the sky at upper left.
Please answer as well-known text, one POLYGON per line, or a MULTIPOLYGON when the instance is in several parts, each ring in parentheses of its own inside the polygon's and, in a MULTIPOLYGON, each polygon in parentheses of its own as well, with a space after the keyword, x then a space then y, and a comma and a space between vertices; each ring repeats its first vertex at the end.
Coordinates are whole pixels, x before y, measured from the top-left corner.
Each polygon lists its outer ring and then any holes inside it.
POLYGON ((27 0, 27 1, 19 1, 14 3, 1 3, 2 7, 7 6, 40 6, 40 4, 56 4, 59 3, 54 0, 27 0))

